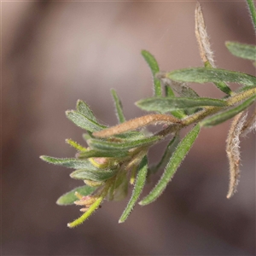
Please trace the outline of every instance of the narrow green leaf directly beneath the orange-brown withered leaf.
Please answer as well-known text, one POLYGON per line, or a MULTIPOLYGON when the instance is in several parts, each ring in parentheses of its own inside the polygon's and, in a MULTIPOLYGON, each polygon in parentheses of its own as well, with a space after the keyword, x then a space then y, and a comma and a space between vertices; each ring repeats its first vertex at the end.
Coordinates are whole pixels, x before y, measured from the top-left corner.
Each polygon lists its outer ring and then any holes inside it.
POLYGON ((137 148, 142 146, 147 146, 150 144, 154 144, 160 140, 160 137, 147 137, 145 139, 138 139, 135 141, 127 141, 125 143, 112 143, 108 141, 103 141, 100 139, 90 139, 88 141, 90 148, 100 149, 100 150, 122 150, 130 148, 137 148))

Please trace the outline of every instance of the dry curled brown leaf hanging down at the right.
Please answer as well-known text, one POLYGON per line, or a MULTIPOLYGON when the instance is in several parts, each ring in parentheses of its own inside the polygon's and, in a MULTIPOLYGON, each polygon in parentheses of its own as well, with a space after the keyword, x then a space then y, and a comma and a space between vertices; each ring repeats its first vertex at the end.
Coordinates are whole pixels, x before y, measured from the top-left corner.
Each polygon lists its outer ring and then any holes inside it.
POLYGON ((226 152, 230 161, 230 188, 227 198, 230 198, 236 192, 240 177, 240 139, 242 127, 246 121, 247 113, 238 113, 233 119, 229 135, 227 138, 226 152))

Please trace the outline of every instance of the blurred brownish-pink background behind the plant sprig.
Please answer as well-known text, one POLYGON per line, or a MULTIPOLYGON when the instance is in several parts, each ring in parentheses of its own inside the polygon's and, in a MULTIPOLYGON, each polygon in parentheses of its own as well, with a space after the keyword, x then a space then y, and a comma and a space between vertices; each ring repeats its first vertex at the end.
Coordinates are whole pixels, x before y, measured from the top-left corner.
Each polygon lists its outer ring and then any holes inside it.
MULTIPOLYGON (((127 200, 106 201, 82 226, 68 229, 79 208, 55 201, 82 183, 39 160, 72 157, 65 138, 83 143, 83 131, 64 113, 77 99, 114 125, 109 90, 115 88, 127 119, 143 114, 133 103, 152 95, 152 79, 141 49, 154 54, 161 70, 202 65, 195 1, 1 4, 3 255, 255 255, 255 136, 241 143, 241 181, 227 200, 229 121, 201 131, 165 193, 135 207, 125 224, 118 219, 127 200)), ((255 43, 245 1, 204 1, 202 8, 217 66, 255 74, 250 61, 224 46, 255 43)), ((212 84, 192 87, 201 96, 224 96, 212 84)), ((163 145, 154 148, 151 161, 162 151, 163 145)))

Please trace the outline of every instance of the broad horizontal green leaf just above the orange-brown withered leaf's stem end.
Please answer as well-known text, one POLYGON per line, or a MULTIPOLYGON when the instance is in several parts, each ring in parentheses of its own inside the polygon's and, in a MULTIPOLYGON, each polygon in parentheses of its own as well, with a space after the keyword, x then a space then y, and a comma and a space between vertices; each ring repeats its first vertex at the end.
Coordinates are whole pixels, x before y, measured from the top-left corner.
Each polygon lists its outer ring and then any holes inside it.
POLYGON ((161 111, 163 113, 177 109, 196 108, 204 106, 224 107, 226 102, 212 98, 181 98, 181 97, 153 97, 136 102, 137 107, 147 111, 161 111))

